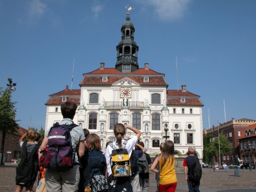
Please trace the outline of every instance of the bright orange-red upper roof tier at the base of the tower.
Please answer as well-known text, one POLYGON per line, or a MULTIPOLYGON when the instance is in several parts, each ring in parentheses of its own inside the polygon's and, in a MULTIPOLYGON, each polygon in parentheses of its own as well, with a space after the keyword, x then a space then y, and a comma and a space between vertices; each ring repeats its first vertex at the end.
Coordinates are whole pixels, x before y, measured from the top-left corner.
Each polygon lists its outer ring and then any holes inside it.
POLYGON ((138 70, 131 73, 122 73, 117 71, 116 68, 99 68, 97 70, 84 73, 83 75, 161 75, 163 73, 156 72, 154 70, 145 70, 145 68, 139 68, 138 70))

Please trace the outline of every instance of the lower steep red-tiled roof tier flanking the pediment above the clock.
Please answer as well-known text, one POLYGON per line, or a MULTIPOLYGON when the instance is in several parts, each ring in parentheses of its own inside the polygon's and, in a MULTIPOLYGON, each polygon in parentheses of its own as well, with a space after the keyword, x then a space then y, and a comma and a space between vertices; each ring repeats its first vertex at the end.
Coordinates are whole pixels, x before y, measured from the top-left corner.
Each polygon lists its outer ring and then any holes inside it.
MULTIPOLYGON (((116 81, 121 80, 124 76, 110 76, 107 78, 107 82, 102 82, 101 76, 85 76, 81 82, 81 85, 112 85, 116 81)), ((129 76, 132 81, 139 83, 140 85, 165 85, 166 83, 164 76, 151 76, 149 82, 144 82, 142 76, 129 76)))

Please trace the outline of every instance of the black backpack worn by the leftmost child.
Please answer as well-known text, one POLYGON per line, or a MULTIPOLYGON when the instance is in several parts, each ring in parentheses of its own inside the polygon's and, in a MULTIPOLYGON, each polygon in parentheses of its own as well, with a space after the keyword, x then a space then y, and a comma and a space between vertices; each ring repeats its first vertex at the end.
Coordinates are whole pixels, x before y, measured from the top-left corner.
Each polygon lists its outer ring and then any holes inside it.
POLYGON ((27 155, 27 142, 22 144, 21 162, 16 168, 16 185, 29 186, 35 180, 38 169, 37 150, 39 145, 35 144, 30 155, 27 155))

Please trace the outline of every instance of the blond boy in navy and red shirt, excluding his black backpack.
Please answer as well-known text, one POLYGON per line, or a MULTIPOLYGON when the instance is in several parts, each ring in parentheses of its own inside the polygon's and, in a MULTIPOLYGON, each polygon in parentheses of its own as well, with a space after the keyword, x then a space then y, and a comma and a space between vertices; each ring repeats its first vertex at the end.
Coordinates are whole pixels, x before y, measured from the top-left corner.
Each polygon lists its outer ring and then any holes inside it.
POLYGON ((189 149, 189 156, 184 159, 183 166, 184 166, 184 176, 185 176, 185 181, 188 183, 189 187, 189 192, 200 192, 199 190, 199 185, 200 185, 200 180, 199 181, 194 181, 191 178, 191 172, 193 171, 194 164, 196 162, 196 156, 195 156, 195 147, 190 146, 189 149))

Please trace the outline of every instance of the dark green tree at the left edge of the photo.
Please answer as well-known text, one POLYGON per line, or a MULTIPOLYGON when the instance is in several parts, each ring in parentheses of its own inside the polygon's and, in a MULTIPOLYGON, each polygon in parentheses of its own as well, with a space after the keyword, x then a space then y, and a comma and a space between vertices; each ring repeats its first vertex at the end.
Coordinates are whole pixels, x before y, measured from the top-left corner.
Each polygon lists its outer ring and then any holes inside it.
POLYGON ((3 90, 0 87, 0 131, 14 132, 18 129, 17 121, 14 120, 16 115, 15 105, 12 101, 11 93, 8 88, 3 90))

